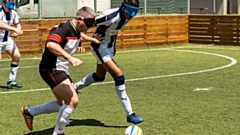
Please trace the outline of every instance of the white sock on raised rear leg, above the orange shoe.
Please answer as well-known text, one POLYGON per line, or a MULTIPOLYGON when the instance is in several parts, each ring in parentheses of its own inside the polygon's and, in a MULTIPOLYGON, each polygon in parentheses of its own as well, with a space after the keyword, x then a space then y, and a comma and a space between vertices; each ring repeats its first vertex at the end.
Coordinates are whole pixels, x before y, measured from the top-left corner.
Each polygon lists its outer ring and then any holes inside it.
POLYGON ((54 100, 54 101, 47 102, 45 104, 31 106, 29 109, 29 113, 32 116, 35 116, 38 114, 53 113, 53 112, 58 112, 60 107, 61 106, 58 104, 58 101, 54 100))

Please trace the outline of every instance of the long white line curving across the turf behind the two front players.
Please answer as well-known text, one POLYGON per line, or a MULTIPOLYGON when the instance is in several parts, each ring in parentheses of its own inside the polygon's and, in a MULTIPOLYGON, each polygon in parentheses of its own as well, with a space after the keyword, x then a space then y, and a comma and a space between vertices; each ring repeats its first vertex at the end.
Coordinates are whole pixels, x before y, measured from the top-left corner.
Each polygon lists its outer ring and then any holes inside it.
MULTIPOLYGON (((199 74, 199 73, 204 73, 204 72, 210 72, 210 71, 216 71, 224 68, 231 67, 237 63, 237 60, 234 58, 231 58, 226 55, 221 55, 221 54, 215 54, 215 53, 207 53, 207 52, 200 52, 200 51, 190 51, 190 50, 174 50, 174 51, 182 51, 182 52, 190 52, 190 53, 200 53, 200 54, 205 54, 205 55, 212 55, 212 56, 218 56, 222 57, 225 59, 229 59, 231 63, 221 66, 221 67, 216 67, 216 68, 211 68, 211 69, 206 69, 206 70, 200 70, 200 71, 194 71, 194 72, 185 72, 185 73, 178 73, 178 74, 170 74, 170 75, 161 75, 161 76, 152 76, 152 77, 143 77, 143 78, 134 78, 134 79, 127 79, 127 82, 131 81, 140 81, 140 80, 149 80, 149 79, 157 79, 157 78, 166 78, 166 77, 174 77, 174 76, 183 76, 183 75, 191 75, 191 74, 199 74)), ((109 83, 114 83, 114 81, 109 81, 109 82, 102 82, 102 83, 95 83, 93 85, 100 85, 100 84, 109 84, 109 83)), ((8 91, 8 92, 0 92, 0 94, 11 94, 11 93, 25 93, 25 92, 35 92, 35 91, 45 91, 49 90, 49 88, 41 88, 41 89, 31 89, 31 90, 19 90, 19 91, 8 91)))

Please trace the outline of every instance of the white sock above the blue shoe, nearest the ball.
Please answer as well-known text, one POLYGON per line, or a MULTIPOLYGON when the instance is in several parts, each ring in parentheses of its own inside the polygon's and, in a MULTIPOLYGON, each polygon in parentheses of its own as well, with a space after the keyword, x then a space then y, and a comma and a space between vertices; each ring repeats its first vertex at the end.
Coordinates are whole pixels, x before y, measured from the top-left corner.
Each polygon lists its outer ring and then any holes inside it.
POLYGON ((126 93, 125 84, 115 86, 119 100, 122 102, 122 105, 126 111, 126 115, 131 115, 133 113, 130 99, 126 93))

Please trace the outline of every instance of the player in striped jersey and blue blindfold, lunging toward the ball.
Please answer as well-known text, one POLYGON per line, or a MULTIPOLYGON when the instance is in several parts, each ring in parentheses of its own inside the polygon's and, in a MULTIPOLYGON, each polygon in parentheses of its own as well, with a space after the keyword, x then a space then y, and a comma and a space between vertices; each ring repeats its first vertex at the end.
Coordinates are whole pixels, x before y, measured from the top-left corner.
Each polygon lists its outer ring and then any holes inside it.
POLYGON ((126 111, 127 122, 133 124, 141 123, 143 119, 132 110, 130 99, 126 93, 123 72, 117 66, 113 56, 118 31, 137 14, 138 9, 138 0, 123 0, 119 8, 107 10, 95 18, 97 26, 95 34, 101 34, 104 37, 101 44, 91 43, 91 51, 97 59, 96 71, 74 84, 75 89, 80 90, 92 83, 104 81, 106 73, 110 73, 115 81, 116 93, 126 111))

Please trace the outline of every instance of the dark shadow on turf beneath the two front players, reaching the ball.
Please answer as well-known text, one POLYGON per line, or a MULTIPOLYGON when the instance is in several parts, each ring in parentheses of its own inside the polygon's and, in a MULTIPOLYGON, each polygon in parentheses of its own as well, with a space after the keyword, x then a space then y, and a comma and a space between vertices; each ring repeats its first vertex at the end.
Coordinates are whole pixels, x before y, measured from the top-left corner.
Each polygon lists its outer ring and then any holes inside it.
MULTIPOLYGON (((95 119, 85 119, 85 120, 77 120, 77 119, 70 119, 69 124, 67 127, 70 126, 100 126, 100 127, 106 127, 106 128, 127 128, 128 126, 112 126, 112 125, 105 125, 99 120, 95 119)), ((27 133, 24 135, 50 135, 52 134, 54 128, 48 128, 42 131, 34 131, 31 133, 27 133)))

